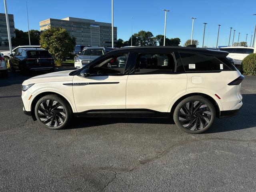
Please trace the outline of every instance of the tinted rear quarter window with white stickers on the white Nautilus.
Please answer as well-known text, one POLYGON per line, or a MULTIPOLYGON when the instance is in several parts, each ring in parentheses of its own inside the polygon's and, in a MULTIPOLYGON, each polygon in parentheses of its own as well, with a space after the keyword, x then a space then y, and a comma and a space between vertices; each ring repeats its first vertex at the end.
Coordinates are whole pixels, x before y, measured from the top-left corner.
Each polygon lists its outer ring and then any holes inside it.
POLYGON ((186 72, 212 72, 231 70, 225 63, 214 56, 180 52, 186 72))

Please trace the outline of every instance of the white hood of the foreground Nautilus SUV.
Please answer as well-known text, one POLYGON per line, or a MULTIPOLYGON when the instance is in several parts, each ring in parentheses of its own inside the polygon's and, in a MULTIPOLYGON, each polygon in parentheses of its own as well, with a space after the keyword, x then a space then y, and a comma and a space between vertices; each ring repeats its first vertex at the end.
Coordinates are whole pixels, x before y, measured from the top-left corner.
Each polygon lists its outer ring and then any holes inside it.
POLYGON ((69 75, 70 72, 72 71, 74 70, 59 71, 59 72, 38 75, 28 80, 25 80, 22 83, 22 85, 28 85, 33 83, 57 82, 57 81, 72 81, 74 76, 69 75))

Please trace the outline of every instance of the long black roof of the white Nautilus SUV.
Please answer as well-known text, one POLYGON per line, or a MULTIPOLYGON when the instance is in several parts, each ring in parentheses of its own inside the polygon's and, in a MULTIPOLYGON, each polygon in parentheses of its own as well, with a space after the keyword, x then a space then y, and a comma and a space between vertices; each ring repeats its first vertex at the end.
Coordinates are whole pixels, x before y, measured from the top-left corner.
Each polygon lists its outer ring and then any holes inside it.
POLYGON ((111 52, 108 52, 108 55, 112 54, 122 54, 125 52, 147 52, 147 51, 156 51, 156 52, 173 52, 173 51, 182 51, 182 52, 196 52, 202 54, 211 54, 213 56, 226 57, 228 52, 219 51, 219 50, 209 50, 206 48, 194 48, 194 47, 179 47, 179 46, 136 46, 136 47, 126 47, 120 49, 114 49, 111 52))

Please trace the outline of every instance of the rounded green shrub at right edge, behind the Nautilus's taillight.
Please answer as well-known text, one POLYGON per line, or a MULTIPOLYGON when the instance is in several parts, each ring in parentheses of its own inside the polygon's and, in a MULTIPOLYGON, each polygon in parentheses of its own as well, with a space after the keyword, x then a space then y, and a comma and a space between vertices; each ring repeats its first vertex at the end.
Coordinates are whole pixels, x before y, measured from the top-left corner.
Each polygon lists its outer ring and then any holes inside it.
POLYGON ((242 68, 245 75, 256 75, 256 53, 252 53, 244 58, 242 68))

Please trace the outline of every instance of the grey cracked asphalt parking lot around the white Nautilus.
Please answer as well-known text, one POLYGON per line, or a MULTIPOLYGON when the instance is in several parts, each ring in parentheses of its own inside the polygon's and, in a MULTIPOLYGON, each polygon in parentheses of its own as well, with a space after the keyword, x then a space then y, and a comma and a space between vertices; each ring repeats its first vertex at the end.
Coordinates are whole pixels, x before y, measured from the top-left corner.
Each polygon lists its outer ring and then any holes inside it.
POLYGON ((168 119, 76 118, 48 130, 23 114, 21 83, 0 78, 0 191, 256 190, 256 77, 237 116, 186 134, 168 119))

